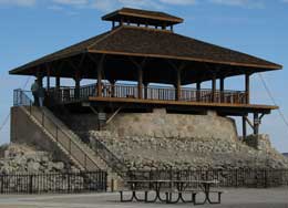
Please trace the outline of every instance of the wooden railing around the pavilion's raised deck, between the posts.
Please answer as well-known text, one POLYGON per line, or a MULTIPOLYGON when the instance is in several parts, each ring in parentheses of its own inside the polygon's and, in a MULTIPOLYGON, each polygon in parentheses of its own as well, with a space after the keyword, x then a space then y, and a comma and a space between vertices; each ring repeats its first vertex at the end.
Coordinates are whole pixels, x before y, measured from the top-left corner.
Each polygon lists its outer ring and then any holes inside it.
MULTIPOLYGON (((103 97, 119 98, 138 98, 137 85, 128 84, 102 84, 103 97)), ((86 101, 91 96, 97 96, 97 87, 95 84, 75 87, 50 89, 50 95, 54 101, 60 103, 72 103, 86 101)), ((148 86, 143 87, 143 100, 156 101, 177 101, 176 90, 173 87, 148 86)), ((228 104, 247 104, 247 94, 244 91, 215 91, 196 89, 182 89, 178 101, 200 102, 200 103, 228 103, 228 104)))

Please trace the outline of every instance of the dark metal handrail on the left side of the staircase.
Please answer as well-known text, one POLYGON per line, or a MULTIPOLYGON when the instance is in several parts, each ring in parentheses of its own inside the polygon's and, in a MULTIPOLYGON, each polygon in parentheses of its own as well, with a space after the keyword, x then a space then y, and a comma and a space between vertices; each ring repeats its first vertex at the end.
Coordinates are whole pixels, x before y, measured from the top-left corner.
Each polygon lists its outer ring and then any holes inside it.
MULTIPOLYGON (((41 112, 41 121, 39 121, 39 118, 37 116, 34 116, 32 114, 32 100, 27 95, 27 93, 29 93, 29 91, 22 91, 20 89, 14 90, 14 106, 24 106, 28 107, 28 111, 30 113, 31 116, 33 116, 38 122, 41 123, 41 125, 44 127, 45 124, 45 119, 48 119, 50 123, 52 123, 54 125, 55 132, 52 133, 51 131, 49 131, 47 128, 47 131, 53 136, 55 137, 56 143, 61 144, 68 152, 70 155, 72 155, 71 153, 71 144, 73 143, 73 145, 78 148, 78 150, 80 150, 82 153, 82 155, 84 156, 84 164, 83 162, 81 162, 79 158, 74 157, 74 159, 76 159, 85 169, 88 169, 88 159, 97 168, 99 166, 96 165, 96 163, 94 163, 94 160, 88 155, 85 154, 85 152, 80 147, 80 145, 78 143, 75 143, 71 136, 61 129, 61 127, 53 122, 49 116, 45 115, 45 113, 43 112, 43 110, 39 108, 39 111, 41 112), (62 135, 65 135, 65 137, 69 139, 69 148, 65 147, 65 145, 63 145, 60 141, 59 141, 59 133, 61 133, 62 135)), ((73 155, 72 155, 73 156, 73 155)))

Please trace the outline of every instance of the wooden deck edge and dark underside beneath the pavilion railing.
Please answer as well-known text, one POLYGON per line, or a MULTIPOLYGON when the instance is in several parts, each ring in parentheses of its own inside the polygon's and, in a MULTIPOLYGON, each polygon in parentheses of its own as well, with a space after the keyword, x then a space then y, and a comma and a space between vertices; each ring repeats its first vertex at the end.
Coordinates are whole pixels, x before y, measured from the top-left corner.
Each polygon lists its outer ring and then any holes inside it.
POLYGON ((119 98, 119 97, 94 97, 89 100, 65 103, 70 108, 82 111, 93 107, 103 107, 105 112, 113 112, 121 107, 123 111, 153 111, 153 108, 166 108, 175 113, 196 113, 205 114, 207 111, 216 111, 219 115, 225 116, 243 116, 249 113, 270 114, 271 110, 277 106, 270 105, 251 105, 251 104, 224 104, 224 103, 200 103, 200 102, 183 102, 183 101, 154 101, 138 98, 119 98))

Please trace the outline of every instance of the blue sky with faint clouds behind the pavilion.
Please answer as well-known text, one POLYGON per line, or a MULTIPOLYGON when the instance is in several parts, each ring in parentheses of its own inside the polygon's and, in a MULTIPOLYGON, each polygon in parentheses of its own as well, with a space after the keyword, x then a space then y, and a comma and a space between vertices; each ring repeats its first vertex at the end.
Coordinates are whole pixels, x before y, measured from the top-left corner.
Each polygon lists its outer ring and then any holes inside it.
MULTIPOLYGON (((33 81, 8 71, 110 30, 101 17, 122 7, 178 15, 185 22, 177 33, 284 65, 261 75, 288 119, 288 0, 0 0, 0 144, 10 139, 13 90, 29 90, 33 81)), ((244 90, 244 77, 227 79, 226 87, 244 90)), ((257 74, 251 103, 274 104, 257 74)), ((264 117, 260 132, 270 135, 275 148, 288 152, 288 126, 278 111, 264 117)))

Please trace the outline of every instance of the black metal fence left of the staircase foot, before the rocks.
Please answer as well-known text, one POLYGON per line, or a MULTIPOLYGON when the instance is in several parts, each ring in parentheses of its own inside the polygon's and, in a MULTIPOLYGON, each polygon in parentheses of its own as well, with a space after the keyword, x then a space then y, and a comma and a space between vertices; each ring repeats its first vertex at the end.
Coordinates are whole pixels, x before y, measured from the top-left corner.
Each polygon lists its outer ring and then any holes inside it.
POLYGON ((106 191, 105 171, 0 175, 0 194, 73 194, 106 191))

